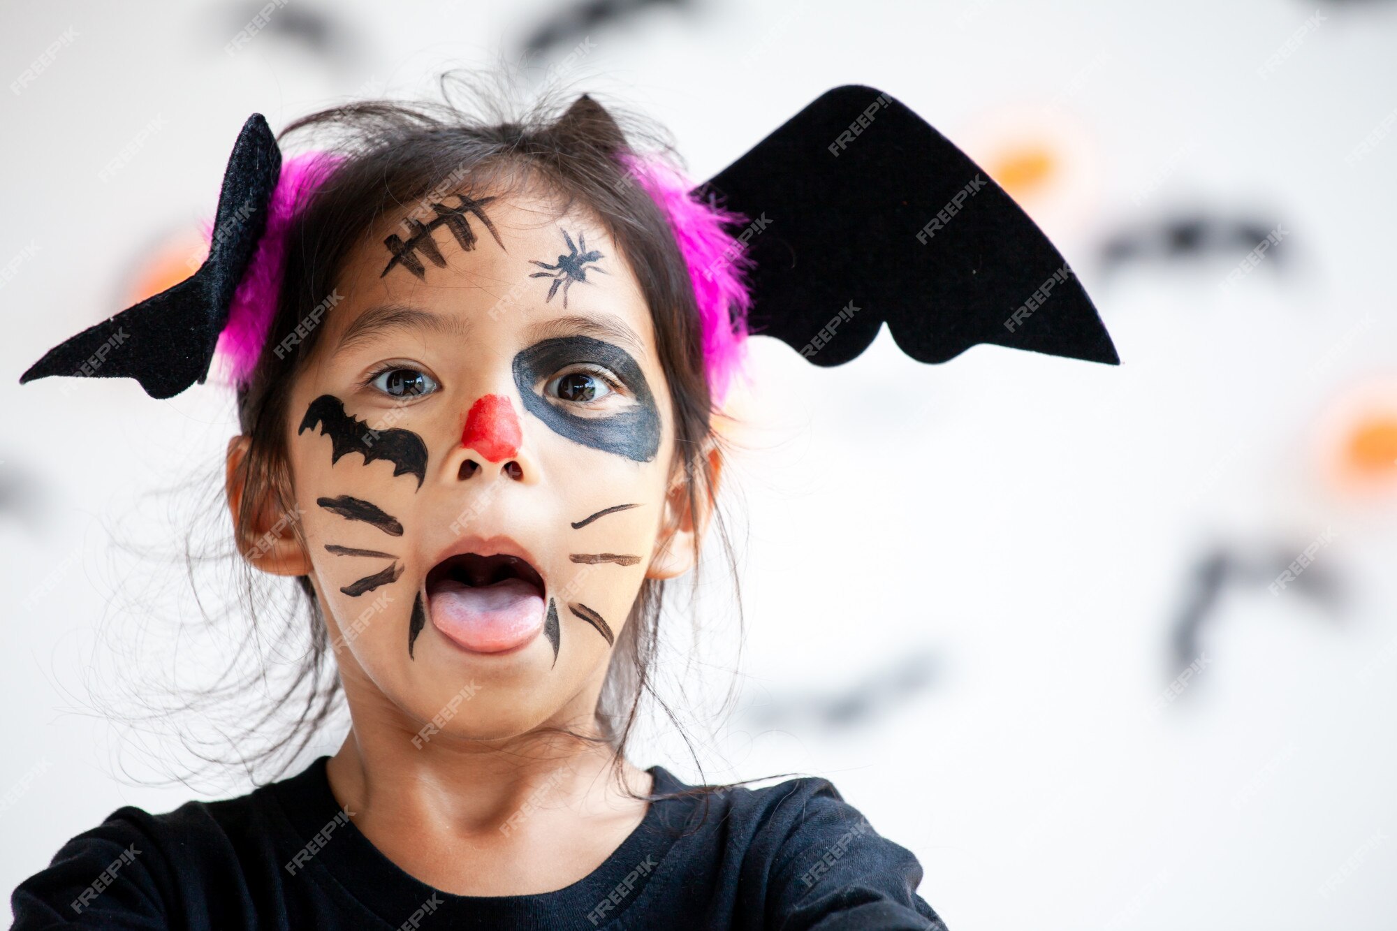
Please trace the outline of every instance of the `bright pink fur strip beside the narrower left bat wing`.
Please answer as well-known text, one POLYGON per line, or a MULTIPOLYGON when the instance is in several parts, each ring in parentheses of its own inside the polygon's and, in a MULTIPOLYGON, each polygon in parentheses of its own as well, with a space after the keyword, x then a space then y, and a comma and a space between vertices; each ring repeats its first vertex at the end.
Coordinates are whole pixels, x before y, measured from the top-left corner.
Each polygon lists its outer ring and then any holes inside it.
MULTIPOLYGON (((292 218, 341 157, 328 152, 306 152, 286 159, 277 179, 267 207, 267 228, 257 240, 247 270, 243 273, 233 302, 228 309, 228 323, 218 335, 218 355, 222 370, 235 384, 243 384, 267 342, 271 319, 277 313, 281 292, 282 266, 286 259, 286 229, 292 218)), ((212 231, 207 235, 212 238, 212 231)))

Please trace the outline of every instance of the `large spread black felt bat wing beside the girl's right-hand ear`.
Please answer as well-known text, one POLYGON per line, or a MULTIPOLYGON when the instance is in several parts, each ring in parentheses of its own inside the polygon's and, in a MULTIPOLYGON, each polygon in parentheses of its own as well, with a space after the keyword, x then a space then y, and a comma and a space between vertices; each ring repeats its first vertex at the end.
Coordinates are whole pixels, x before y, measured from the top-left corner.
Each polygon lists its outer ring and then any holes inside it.
POLYGON ((876 88, 823 94, 694 193, 760 221, 747 240, 750 330, 816 365, 856 358, 883 322, 921 362, 977 342, 1119 362, 1048 236, 970 157, 876 88), (845 306, 856 310, 841 315, 845 306), (817 338, 835 317, 837 335, 817 338))

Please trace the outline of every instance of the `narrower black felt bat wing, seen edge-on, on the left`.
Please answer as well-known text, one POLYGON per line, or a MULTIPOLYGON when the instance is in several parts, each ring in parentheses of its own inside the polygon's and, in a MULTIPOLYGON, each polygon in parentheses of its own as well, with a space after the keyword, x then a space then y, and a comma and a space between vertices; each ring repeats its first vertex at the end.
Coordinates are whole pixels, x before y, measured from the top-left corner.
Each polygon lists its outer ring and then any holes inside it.
POLYGON ((20 382, 50 375, 130 377, 151 397, 175 397, 208 376, 218 334, 281 175, 281 150, 261 113, 237 134, 224 172, 208 259, 193 275, 49 349, 20 382))

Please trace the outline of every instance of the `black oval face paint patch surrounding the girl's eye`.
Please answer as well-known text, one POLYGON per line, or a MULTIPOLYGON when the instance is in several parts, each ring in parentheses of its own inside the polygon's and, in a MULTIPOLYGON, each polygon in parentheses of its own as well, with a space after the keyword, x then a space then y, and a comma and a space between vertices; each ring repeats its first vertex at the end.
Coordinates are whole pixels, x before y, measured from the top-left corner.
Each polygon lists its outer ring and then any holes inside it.
POLYGON ((619 345, 585 335, 543 340, 514 356, 514 383, 524 408, 559 436, 637 463, 648 463, 659 452, 659 408, 655 407, 640 365, 619 345), (636 394, 636 404, 609 417, 580 417, 534 391, 539 379, 578 362, 591 362, 615 372, 636 394))

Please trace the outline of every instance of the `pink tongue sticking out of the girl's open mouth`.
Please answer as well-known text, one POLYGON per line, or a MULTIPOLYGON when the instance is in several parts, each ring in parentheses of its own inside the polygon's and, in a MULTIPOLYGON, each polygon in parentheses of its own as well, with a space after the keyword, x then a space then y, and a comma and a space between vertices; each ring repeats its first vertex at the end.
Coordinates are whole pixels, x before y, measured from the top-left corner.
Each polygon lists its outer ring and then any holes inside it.
POLYGON ((522 579, 472 589, 446 579, 427 591, 432 625, 475 653, 500 653, 529 640, 543 626, 543 598, 522 579))

